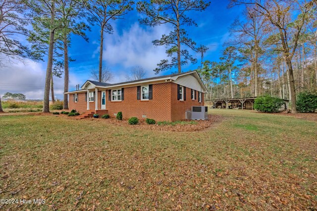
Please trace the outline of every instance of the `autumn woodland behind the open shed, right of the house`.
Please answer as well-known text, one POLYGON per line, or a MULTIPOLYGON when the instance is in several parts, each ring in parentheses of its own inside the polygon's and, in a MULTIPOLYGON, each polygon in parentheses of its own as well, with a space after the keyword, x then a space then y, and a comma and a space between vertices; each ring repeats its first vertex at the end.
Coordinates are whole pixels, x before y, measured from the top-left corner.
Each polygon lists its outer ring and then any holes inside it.
POLYGON ((198 71, 207 99, 271 95, 290 99, 317 88, 316 1, 231 0, 245 10, 230 27, 219 62, 198 71))

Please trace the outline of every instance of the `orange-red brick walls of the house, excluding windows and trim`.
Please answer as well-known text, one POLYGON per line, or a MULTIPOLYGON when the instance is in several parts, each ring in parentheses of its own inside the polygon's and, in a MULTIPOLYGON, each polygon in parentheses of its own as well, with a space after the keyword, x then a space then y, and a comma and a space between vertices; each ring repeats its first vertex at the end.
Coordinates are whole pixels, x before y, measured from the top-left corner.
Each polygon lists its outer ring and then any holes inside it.
MULTIPOLYGON (((87 112, 85 93, 78 94, 78 102, 73 102, 73 95, 69 95, 68 107, 76 109, 79 113, 87 112)), ((186 100, 177 100, 177 84, 161 83, 153 84, 152 100, 137 100, 137 86, 124 88, 124 100, 109 101, 108 90, 106 90, 106 110, 101 109, 101 91, 98 91, 98 113, 109 114, 114 117, 115 113, 122 112, 123 119, 137 117, 139 119, 154 119, 156 121, 177 121, 185 119, 185 111, 191 110, 192 106, 204 105, 204 94, 202 103, 198 102, 198 91, 196 100, 191 99, 191 89, 186 88, 186 100), (146 117, 142 117, 146 115, 146 117)), ((90 102, 90 110, 95 110, 95 102, 90 102)))

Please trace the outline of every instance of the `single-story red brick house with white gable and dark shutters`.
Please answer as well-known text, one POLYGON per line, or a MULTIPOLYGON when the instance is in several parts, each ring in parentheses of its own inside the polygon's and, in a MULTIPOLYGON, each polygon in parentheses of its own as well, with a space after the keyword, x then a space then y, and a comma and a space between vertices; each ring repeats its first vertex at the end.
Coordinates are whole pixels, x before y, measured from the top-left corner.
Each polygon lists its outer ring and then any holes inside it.
POLYGON ((207 88, 196 71, 117 84, 88 80, 69 95, 69 109, 79 113, 109 114, 121 111, 123 118, 177 121, 185 119, 192 106, 204 105, 207 88))

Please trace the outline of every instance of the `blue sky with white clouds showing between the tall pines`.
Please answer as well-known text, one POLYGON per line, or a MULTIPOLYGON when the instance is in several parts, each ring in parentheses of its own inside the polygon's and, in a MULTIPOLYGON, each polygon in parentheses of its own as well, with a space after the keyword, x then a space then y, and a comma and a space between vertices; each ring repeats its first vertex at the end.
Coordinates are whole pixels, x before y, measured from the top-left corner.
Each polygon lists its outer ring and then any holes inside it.
MULTIPOLYGON (((198 27, 186 28, 189 37, 198 45, 209 47, 204 60, 217 61, 223 42, 229 39, 229 27, 241 12, 241 7, 227 8, 227 0, 212 1, 203 12, 194 12, 190 16, 198 27)), ((153 69, 161 59, 166 58, 165 47, 155 47, 152 41, 159 39, 162 34, 171 31, 171 26, 161 25, 148 27, 140 25, 140 14, 134 9, 125 19, 112 21, 113 34, 105 35, 103 63, 112 70, 113 78, 109 83, 125 81, 126 74, 134 66, 145 69, 147 77, 155 76, 153 69)), ((82 85, 90 79, 91 69, 99 65, 99 28, 93 26, 87 32, 89 42, 78 36, 72 36, 69 55, 75 59, 70 63, 70 90, 75 84, 82 85)), ((182 67, 182 71, 196 69, 200 65, 200 54, 193 53, 198 59, 194 65, 182 67)), ((45 58, 46 59, 46 58, 45 58)), ((159 73, 167 75, 177 70, 171 69, 159 73)), ((24 93, 28 99, 43 99, 46 62, 19 61, 0 68, 0 94, 10 91, 24 93)), ((63 79, 54 78, 55 97, 62 99, 63 79)))

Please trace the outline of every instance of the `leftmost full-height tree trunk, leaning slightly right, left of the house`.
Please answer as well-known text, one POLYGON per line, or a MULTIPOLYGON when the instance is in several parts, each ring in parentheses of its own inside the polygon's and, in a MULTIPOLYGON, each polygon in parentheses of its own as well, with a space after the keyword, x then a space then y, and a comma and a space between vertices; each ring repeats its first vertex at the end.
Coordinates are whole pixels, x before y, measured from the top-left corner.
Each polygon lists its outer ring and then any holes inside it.
POLYGON ((43 112, 50 112, 50 84, 51 84, 51 77, 52 77, 53 49, 54 49, 54 26, 53 26, 54 19, 55 19, 55 0, 52 0, 49 58, 48 58, 48 65, 46 69, 43 112))

